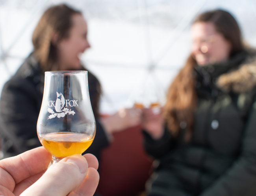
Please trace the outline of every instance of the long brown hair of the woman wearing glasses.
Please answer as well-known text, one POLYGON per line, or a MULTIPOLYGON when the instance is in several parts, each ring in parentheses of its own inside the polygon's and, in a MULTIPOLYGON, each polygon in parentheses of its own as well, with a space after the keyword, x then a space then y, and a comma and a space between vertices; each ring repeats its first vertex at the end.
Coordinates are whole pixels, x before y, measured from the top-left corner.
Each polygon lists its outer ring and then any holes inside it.
MULTIPOLYGON (((193 24, 197 22, 211 22, 216 31, 221 33, 231 45, 230 56, 243 49, 241 32, 234 17, 223 10, 214 10, 197 16, 193 24)), ((177 136, 178 132, 186 127, 188 140, 192 133, 193 116, 197 106, 197 93, 195 91, 195 76, 193 68, 196 65, 195 58, 189 55, 186 64, 180 70, 167 93, 167 102, 163 114, 169 131, 177 136)))

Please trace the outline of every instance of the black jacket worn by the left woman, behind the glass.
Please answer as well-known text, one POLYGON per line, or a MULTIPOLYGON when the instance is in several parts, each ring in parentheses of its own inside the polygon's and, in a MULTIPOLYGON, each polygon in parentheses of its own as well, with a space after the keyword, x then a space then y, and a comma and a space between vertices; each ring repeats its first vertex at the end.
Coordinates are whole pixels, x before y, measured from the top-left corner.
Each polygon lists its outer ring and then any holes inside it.
MULTIPOLYGON (((41 146, 37 137, 37 118, 43 100, 45 74, 33 54, 25 60, 17 73, 3 88, 0 100, 0 129, 4 158, 41 146)), ((95 83, 97 79, 88 72, 89 94, 96 105, 95 83)), ((93 110, 97 109, 93 107, 93 110)), ((96 111, 93 111, 96 113, 96 111)), ((96 135, 86 153, 100 156, 108 146, 108 138, 96 119, 96 135)))

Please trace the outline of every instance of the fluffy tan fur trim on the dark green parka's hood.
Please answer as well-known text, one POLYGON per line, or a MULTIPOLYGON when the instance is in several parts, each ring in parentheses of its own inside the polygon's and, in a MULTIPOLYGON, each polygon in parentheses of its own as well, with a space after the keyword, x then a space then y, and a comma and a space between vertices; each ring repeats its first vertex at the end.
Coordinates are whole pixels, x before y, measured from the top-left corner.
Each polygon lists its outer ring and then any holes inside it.
POLYGON ((256 58, 234 71, 220 75, 216 85, 224 92, 245 93, 252 89, 256 86, 256 58))

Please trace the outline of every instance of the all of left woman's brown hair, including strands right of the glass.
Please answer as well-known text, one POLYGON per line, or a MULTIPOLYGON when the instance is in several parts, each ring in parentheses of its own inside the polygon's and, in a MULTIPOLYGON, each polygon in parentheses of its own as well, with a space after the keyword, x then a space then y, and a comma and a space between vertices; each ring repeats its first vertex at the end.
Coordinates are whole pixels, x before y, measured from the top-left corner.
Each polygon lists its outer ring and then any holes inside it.
MULTIPOLYGON (((69 38, 72 28, 72 16, 82 15, 81 11, 75 10, 68 5, 60 4, 49 7, 40 18, 32 36, 34 46, 33 54, 37 58, 43 72, 57 71, 57 46, 52 43, 52 37, 58 33, 58 41, 69 38)), ((86 70, 82 66, 82 70, 86 70)), ((72 71, 72 70, 69 70, 72 71)), ((98 118, 101 85, 98 79, 88 71, 88 84, 90 91, 91 106, 95 118, 98 118)))

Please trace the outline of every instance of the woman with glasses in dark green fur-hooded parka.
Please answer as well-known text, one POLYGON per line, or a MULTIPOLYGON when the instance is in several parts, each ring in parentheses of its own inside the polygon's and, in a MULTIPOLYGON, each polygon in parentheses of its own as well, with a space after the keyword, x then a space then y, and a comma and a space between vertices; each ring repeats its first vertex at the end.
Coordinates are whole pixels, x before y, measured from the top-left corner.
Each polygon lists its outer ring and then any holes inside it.
POLYGON ((158 160, 147 195, 256 195, 255 52, 226 11, 199 15, 191 29, 163 115, 143 111, 145 149, 158 160))

